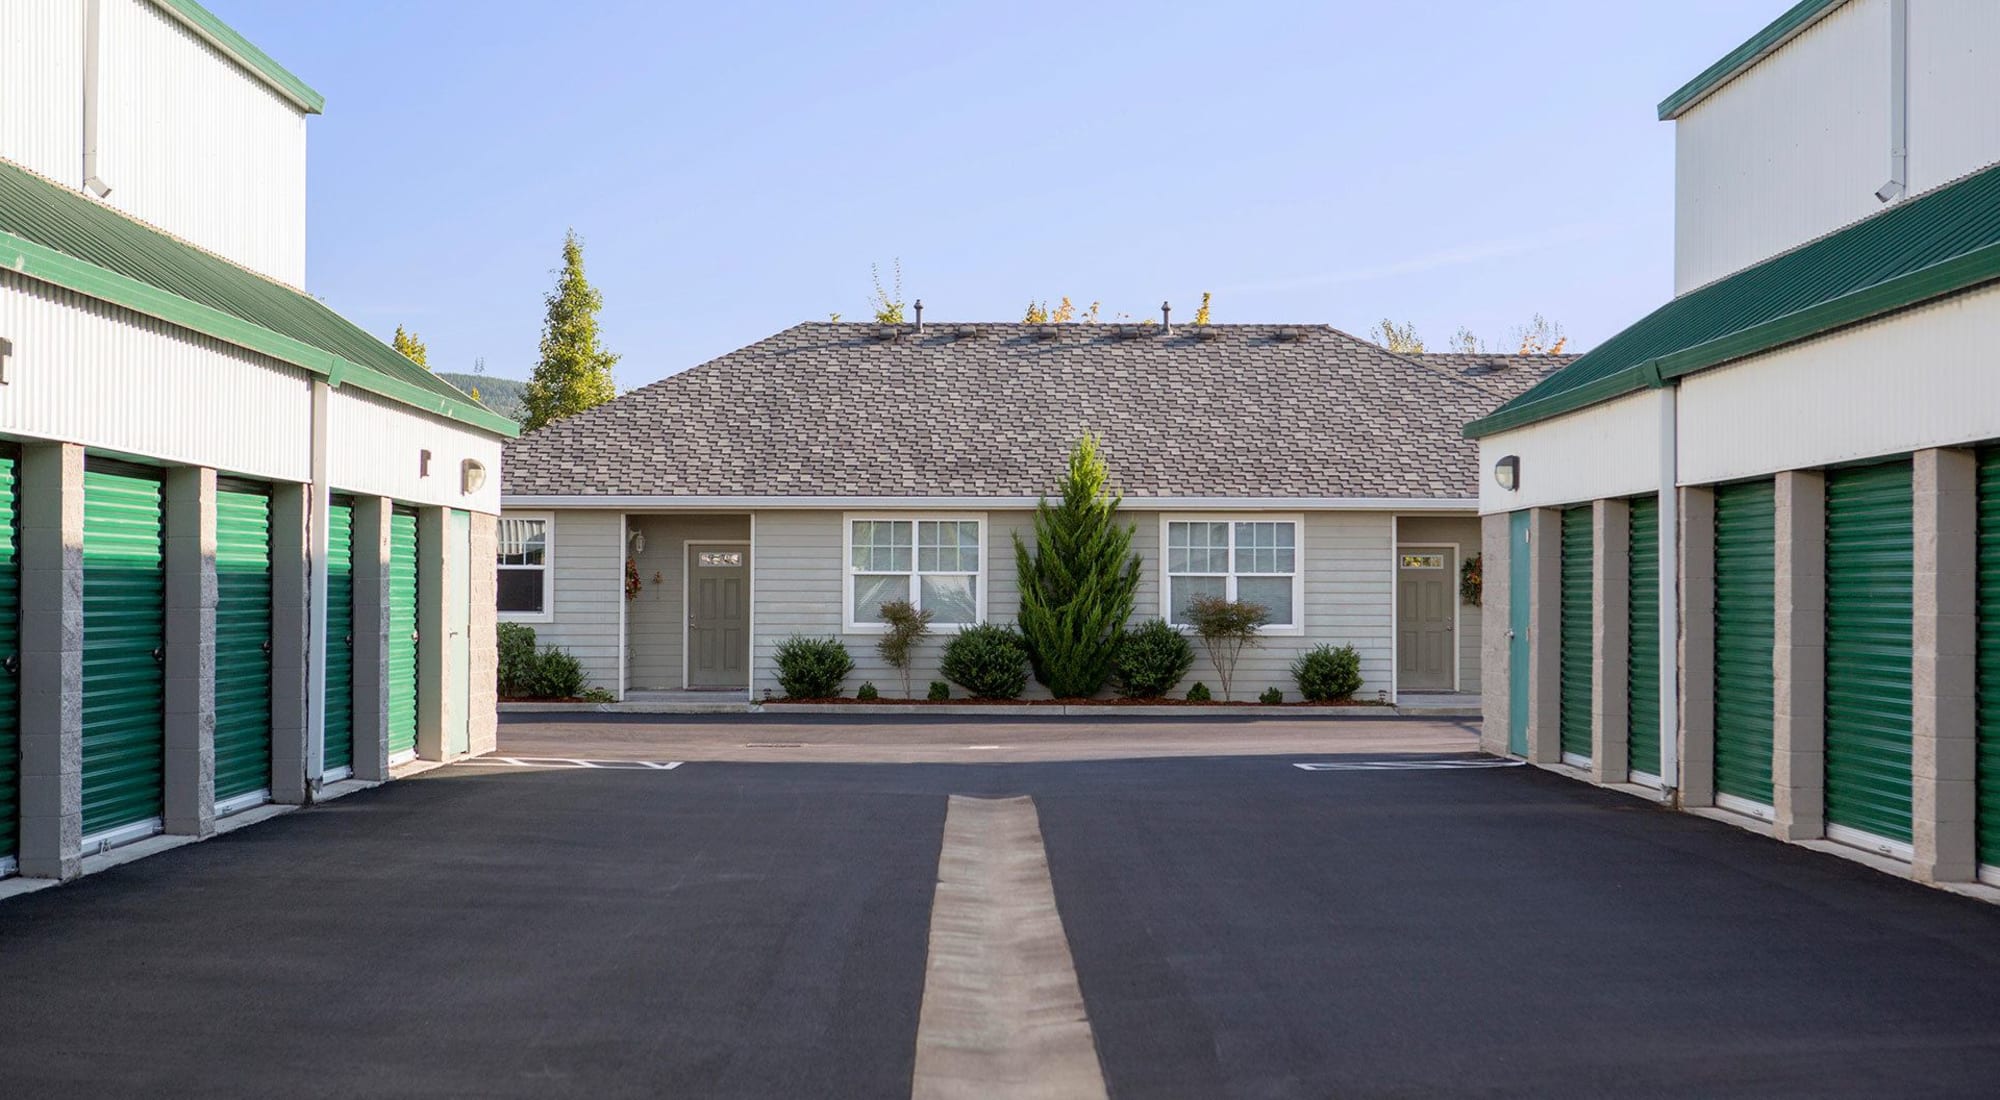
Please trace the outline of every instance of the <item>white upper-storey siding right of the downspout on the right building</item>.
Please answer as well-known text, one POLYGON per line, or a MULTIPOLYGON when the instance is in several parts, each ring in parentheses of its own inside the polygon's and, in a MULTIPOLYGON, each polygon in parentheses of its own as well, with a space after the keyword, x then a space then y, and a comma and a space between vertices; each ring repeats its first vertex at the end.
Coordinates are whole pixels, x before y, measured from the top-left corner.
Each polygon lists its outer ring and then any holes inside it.
POLYGON ((2000 162, 2000 4, 1910 4, 1910 190, 2000 162))

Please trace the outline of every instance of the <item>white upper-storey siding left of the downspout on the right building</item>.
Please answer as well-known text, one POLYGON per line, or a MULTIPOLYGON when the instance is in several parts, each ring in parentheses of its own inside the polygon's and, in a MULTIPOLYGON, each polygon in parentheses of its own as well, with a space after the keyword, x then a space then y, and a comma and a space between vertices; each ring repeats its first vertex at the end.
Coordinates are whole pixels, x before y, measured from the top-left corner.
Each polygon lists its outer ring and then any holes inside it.
MULTIPOLYGON (((1912 8, 1958 2, 1990 0, 1912 8)), ((1874 214, 1888 172, 1888 0, 1850 0, 1674 124, 1674 292, 1874 214)))

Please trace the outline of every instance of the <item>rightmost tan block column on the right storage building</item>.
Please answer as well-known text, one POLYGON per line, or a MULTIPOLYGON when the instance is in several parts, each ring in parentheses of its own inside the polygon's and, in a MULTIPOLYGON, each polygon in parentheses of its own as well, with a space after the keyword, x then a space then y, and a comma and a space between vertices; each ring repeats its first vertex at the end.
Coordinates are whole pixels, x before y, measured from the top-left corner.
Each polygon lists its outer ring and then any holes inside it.
POLYGON ((1978 876, 1978 460, 1966 450, 1914 458, 1912 870, 1924 882, 1970 882, 1978 876))

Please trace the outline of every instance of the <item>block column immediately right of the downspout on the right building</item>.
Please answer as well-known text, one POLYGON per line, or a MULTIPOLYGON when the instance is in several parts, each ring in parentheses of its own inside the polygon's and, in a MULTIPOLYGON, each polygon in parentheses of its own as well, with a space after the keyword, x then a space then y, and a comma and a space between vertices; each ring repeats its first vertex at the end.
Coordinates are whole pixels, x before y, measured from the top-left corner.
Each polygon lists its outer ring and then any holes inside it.
MULTIPOLYGON (((1662 690, 1670 690, 1662 684, 1662 690)), ((1716 804, 1716 492, 1680 490, 1680 804, 1716 804)), ((1662 730, 1674 736, 1674 730, 1662 730)))

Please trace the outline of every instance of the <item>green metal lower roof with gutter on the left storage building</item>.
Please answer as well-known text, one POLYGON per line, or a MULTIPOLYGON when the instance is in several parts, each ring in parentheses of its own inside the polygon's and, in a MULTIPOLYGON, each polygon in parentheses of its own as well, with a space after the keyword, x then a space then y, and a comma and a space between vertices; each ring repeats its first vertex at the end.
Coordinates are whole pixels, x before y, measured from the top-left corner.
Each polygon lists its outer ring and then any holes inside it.
POLYGON ((0 160, 0 266, 202 332, 434 416, 520 426, 316 298, 0 160))

